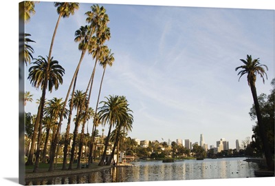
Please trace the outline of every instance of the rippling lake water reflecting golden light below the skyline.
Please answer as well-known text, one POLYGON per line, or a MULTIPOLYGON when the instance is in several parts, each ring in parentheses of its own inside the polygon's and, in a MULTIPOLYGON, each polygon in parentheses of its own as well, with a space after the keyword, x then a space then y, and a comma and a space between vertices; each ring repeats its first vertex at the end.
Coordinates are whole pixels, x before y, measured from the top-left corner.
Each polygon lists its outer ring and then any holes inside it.
POLYGON ((72 176, 26 180, 25 185, 62 185, 77 183, 119 183, 161 180, 197 180, 217 178, 252 178, 256 163, 245 158, 218 158, 176 161, 140 161, 133 167, 113 167, 100 172, 72 176))

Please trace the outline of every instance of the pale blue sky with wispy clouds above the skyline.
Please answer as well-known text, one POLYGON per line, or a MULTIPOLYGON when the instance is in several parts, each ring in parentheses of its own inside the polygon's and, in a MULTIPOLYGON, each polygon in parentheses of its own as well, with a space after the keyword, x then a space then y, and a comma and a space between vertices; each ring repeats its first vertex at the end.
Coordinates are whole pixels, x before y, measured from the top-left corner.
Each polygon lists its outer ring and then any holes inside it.
MULTIPOLYGON (((65 100, 80 58, 74 32, 85 23, 92 3, 80 3, 74 16, 58 26, 52 56, 65 68, 63 85, 47 99, 65 100)), ((238 81, 234 68, 247 54, 267 65, 268 79, 256 83, 259 94, 269 94, 274 77, 274 11, 238 8, 196 8, 101 4, 109 15, 111 39, 106 44, 115 62, 107 68, 100 101, 104 96, 124 95, 133 110, 131 138, 199 141, 208 145, 225 138, 230 147, 236 139, 252 135, 248 112, 252 95, 246 76, 238 81)), ((58 14, 52 2, 36 4, 36 14, 25 25, 32 34, 34 57, 46 56, 58 14)), ((30 65, 28 65, 28 68, 30 65)), ((88 54, 80 68, 78 90, 85 90, 94 60, 88 54)), ((25 90, 34 94, 26 112, 36 114, 35 90, 27 80, 25 90)), ((102 68, 98 65, 90 106, 96 107, 102 68)), ((91 131, 91 121, 89 131, 91 131)), ((62 131, 65 130, 64 122, 62 131)), ((98 127, 101 131, 101 127, 98 127)), ((105 131, 106 128, 105 128, 105 131)))

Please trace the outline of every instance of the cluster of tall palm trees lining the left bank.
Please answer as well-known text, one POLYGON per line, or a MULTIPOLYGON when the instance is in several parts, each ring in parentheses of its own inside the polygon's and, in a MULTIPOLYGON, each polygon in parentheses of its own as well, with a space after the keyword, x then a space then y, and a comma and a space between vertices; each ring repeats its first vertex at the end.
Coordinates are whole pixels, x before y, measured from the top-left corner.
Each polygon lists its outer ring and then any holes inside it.
MULTIPOLYGON (((25 14, 30 14, 29 12, 32 10, 34 11, 35 3, 34 1, 28 1, 24 4, 24 6, 28 7, 25 8, 25 14)), ((54 123, 54 130, 52 132, 52 141, 50 145, 50 167, 49 171, 54 170, 54 157, 56 156, 56 147, 58 144, 58 139, 61 134, 61 125, 63 123, 63 118, 67 118, 67 127, 65 132, 65 147, 64 147, 64 158, 63 158, 63 168, 66 169, 67 163, 67 154, 68 154, 68 145, 69 145, 69 131, 70 125, 72 121, 72 113, 73 110, 76 110, 76 116, 74 118, 74 139, 73 145, 71 149, 71 158, 69 160, 69 167, 68 169, 72 169, 72 164, 74 161, 74 147, 76 147, 76 136, 78 135, 78 128, 81 126, 81 134, 80 134, 80 144, 78 148, 78 165, 77 168, 80 168, 80 158, 82 153, 83 147, 83 138, 84 138, 84 129, 85 124, 89 120, 89 118, 93 119, 93 129, 91 132, 91 147, 89 153, 89 161, 88 166, 90 165, 94 153, 94 133, 96 131, 96 127, 99 123, 102 125, 109 125, 109 132, 107 136, 107 142, 105 144, 104 153, 102 155, 102 161, 104 160, 104 156, 106 156, 107 151, 107 144, 109 143, 109 138, 111 134, 111 128, 115 127, 116 135, 120 133, 120 130, 131 130, 131 125, 133 123, 133 116, 131 114, 131 110, 129 110, 128 101, 124 96, 109 96, 107 101, 100 102, 100 92, 102 89, 102 82, 104 79, 104 74, 107 68, 107 65, 111 66, 113 61, 115 60, 113 57, 113 53, 111 53, 111 49, 105 45, 105 41, 111 38, 110 29, 108 28, 107 24, 109 23, 109 17, 106 13, 106 10, 103 6, 93 5, 91 6, 91 11, 85 13, 87 16, 86 22, 88 23, 85 26, 81 26, 79 30, 75 32, 75 39, 74 41, 78 42, 78 50, 80 50, 81 55, 78 61, 78 65, 72 76, 72 81, 69 85, 67 95, 65 97, 65 101, 62 99, 54 99, 52 102, 45 102, 46 101, 46 90, 52 92, 52 89, 58 89, 59 84, 63 83, 63 75, 65 74, 65 69, 58 64, 58 61, 54 60, 52 56, 52 47, 54 45, 54 38, 56 36, 56 31, 58 28, 58 23, 61 17, 69 17, 71 14, 74 14, 74 10, 79 8, 79 3, 54 3, 54 6, 57 8, 57 12, 59 14, 58 21, 56 22, 56 27, 54 30, 54 34, 52 36, 52 42, 50 44, 50 51, 46 58, 43 56, 39 56, 38 59, 32 58, 32 53, 34 53, 34 49, 32 47, 25 47, 25 63, 27 65, 28 61, 30 63, 30 59, 34 60, 32 63, 32 67, 29 69, 29 76, 28 79, 33 87, 39 89, 41 87, 42 94, 39 103, 39 108, 36 114, 36 121, 34 123, 34 132, 32 135, 32 145, 30 148, 30 154, 28 156, 28 161, 26 165, 32 164, 33 154, 34 154, 34 145, 36 144, 36 161, 34 163, 34 170, 33 172, 39 171, 39 156, 40 156, 40 147, 41 147, 41 136, 42 136, 42 127, 43 123, 47 120, 47 115, 50 116, 50 120, 54 123), (94 69, 91 72, 91 76, 87 83, 87 89, 85 92, 76 90, 76 82, 78 77, 78 72, 80 69, 81 62, 83 58, 88 52, 94 59, 94 69), (100 89, 98 92, 98 99, 96 103, 96 109, 93 110, 89 107, 89 101, 91 99, 91 90, 94 83, 94 74, 96 72, 96 65, 100 63, 103 67, 102 79, 100 81, 100 89), (70 98, 69 98, 70 96, 70 98), (52 104, 54 107, 54 103, 58 105, 56 110, 47 110, 47 106, 45 104, 52 104), (69 109, 66 108, 66 105, 69 105, 69 109), (103 106, 99 107, 99 104, 102 103, 103 106), (36 141, 37 140, 37 141, 36 141), (36 142, 36 143, 35 143, 36 142)), ((35 11, 34 11, 35 12, 35 11)), ((27 16, 25 16, 26 18, 27 16)), ((30 17, 29 17, 30 18, 30 17)), ((25 19, 27 20, 27 19, 25 19)), ((30 34, 25 36, 31 36, 30 34)), ((25 46, 28 45, 30 39, 26 39, 25 37, 25 46)), ((30 45, 29 45, 30 46, 30 45)), ((116 143, 118 144, 118 143, 116 143)), ((116 145, 115 145, 116 146, 116 145)), ((115 147, 114 146, 114 147, 115 147)), ((44 146, 45 147, 45 146, 44 146)), ((114 152, 114 151, 113 151, 114 152)), ((43 152, 45 153, 45 151, 43 152)), ((102 161, 100 161, 99 165, 102 165, 102 161)))

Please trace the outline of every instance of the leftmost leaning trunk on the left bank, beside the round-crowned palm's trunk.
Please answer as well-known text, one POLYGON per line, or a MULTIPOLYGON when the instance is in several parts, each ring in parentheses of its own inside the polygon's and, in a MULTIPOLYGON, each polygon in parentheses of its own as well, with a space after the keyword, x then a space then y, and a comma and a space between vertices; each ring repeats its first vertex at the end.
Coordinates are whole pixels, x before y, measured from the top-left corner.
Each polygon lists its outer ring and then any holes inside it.
POLYGON ((34 163, 32 162, 32 159, 34 158, 34 148, 36 144, 37 132, 39 130, 40 113, 41 113, 41 103, 39 103, 39 110, 37 111, 36 120, 34 123, 34 132, 32 134, 32 143, 30 146, 28 161, 25 163, 25 165, 34 165, 34 163))

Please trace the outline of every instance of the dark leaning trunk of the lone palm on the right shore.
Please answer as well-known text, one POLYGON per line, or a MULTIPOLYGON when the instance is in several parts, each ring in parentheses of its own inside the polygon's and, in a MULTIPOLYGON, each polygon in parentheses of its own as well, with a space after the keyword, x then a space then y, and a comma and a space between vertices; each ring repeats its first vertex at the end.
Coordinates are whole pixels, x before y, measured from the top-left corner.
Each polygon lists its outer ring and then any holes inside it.
POLYGON ((261 116, 261 110, 260 110, 259 101, 258 101, 257 92, 256 92, 256 86, 255 86, 254 82, 250 82, 250 88, 251 88, 251 92, 252 92, 252 96, 253 96, 253 100, 254 100, 258 125, 259 125, 259 129, 260 129, 260 136, 261 136, 261 140, 263 141, 263 149, 265 152, 267 169, 269 169, 270 171, 274 171, 274 161, 272 159, 272 154, 270 152, 269 143, 267 141, 265 123, 263 123, 263 118, 261 116))

